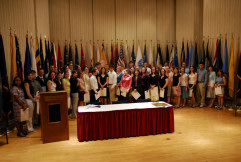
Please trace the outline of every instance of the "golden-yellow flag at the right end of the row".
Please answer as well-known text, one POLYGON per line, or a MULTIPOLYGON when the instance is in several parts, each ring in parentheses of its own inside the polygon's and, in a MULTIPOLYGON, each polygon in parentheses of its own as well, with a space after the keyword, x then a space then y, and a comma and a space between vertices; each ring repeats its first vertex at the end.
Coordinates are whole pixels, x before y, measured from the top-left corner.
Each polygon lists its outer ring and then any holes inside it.
MULTIPOLYGON (((225 44, 227 44, 227 41, 225 41, 225 44)), ((226 51, 226 45, 225 45, 225 51, 226 51)), ((225 58, 225 61, 227 61, 226 58, 225 58)), ((224 62, 224 66, 225 66, 225 62, 224 62)), ((231 44, 231 54, 230 54, 228 74, 229 74, 228 75, 229 96, 233 98, 234 97, 234 80, 235 80, 234 78, 234 39, 233 38, 232 38, 232 44, 231 44)))

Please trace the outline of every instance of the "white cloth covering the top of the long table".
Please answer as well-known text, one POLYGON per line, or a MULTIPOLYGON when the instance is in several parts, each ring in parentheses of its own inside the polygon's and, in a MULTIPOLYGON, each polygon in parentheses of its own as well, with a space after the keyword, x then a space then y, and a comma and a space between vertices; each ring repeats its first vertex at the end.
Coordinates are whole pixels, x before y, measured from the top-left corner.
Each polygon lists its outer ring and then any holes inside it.
MULTIPOLYGON (((152 103, 165 103, 162 101, 159 102, 142 102, 142 103, 127 103, 127 104, 112 104, 112 105, 99 105, 100 107, 94 107, 97 105, 87 105, 79 106, 79 113, 86 112, 103 112, 103 111, 116 111, 116 110, 129 110, 129 109, 148 109, 148 108, 160 108, 161 106, 154 106, 152 103)), ((167 103, 166 103, 167 104, 167 103)), ((172 106, 167 104, 168 107, 172 106)), ((165 108, 165 107, 163 107, 165 108)))

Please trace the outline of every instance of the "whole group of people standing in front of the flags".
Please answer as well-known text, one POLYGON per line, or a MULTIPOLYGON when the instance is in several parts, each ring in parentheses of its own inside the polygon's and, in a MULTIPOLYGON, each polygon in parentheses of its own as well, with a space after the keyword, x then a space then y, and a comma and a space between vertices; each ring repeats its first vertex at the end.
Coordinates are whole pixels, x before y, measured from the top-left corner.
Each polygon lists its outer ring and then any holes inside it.
POLYGON ((137 102, 138 99, 147 99, 147 94, 153 89, 164 91, 164 95, 150 94, 152 101, 165 101, 175 105, 175 108, 185 107, 190 98, 191 107, 205 107, 205 98, 210 98, 209 107, 214 106, 216 97, 215 88, 221 87, 221 94, 218 94, 218 109, 223 108, 224 87, 226 79, 222 70, 214 72, 212 66, 204 68, 204 63, 199 64, 199 68, 187 67, 182 63, 182 67, 169 67, 169 63, 158 67, 148 67, 144 62, 143 67, 135 67, 130 61, 129 66, 117 66, 116 71, 112 65, 101 67, 97 62, 95 67, 90 69, 85 66, 83 69, 79 65, 73 68, 73 63, 64 66, 63 72, 59 72, 56 67, 50 65, 49 72, 44 73, 44 69, 25 74, 22 83, 21 78, 15 77, 13 80, 12 96, 13 110, 18 129, 18 136, 25 137, 29 132, 33 132, 33 125, 39 125, 39 115, 36 112, 36 105, 39 100, 38 92, 66 91, 68 94, 68 108, 72 108, 72 118, 77 118, 77 107, 84 106, 86 102, 101 102, 102 104, 114 101, 137 102), (206 93, 207 90, 207 93, 206 93), (135 98, 132 92, 138 92, 140 97, 135 98), (96 96, 102 95, 97 98, 96 96), (124 94, 124 95, 123 95, 124 94), (196 104, 196 100, 199 101, 196 104), (29 119, 26 121, 27 130, 23 129, 23 122, 20 120, 21 109, 29 110, 29 119))

